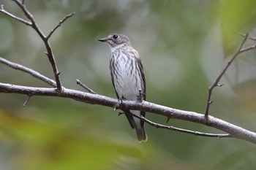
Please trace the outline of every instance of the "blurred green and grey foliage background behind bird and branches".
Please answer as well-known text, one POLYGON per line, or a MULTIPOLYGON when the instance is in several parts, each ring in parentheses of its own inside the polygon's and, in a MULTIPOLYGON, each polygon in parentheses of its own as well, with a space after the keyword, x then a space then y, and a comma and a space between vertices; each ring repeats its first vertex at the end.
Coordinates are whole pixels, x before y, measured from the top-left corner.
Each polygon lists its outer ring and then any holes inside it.
MULTIPOLYGON (((21 18, 13 1, 4 9, 21 18)), ((126 34, 140 53, 147 100, 203 113, 208 86, 236 52, 242 36, 256 36, 255 0, 47 0, 26 1, 45 34, 76 12, 51 37, 65 88, 116 98, 109 72, 110 49, 97 39, 126 34)), ((245 46, 255 45, 248 40, 245 46)), ((0 13, 0 56, 53 79, 45 47, 35 31, 0 13)), ((214 89, 210 114, 256 131, 255 50, 239 55, 214 89)), ((0 82, 49 87, 29 74, 0 65, 0 82)), ((146 124, 139 144, 124 115, 109 107, 68 98, 0 94, 0 169, 255 169, 255 144, 157 129, 146 124)), ((166 123, 148 113, 148 119, 166 123)), ((220 133, 214 128, 170 120, 167 125, 220 133)))

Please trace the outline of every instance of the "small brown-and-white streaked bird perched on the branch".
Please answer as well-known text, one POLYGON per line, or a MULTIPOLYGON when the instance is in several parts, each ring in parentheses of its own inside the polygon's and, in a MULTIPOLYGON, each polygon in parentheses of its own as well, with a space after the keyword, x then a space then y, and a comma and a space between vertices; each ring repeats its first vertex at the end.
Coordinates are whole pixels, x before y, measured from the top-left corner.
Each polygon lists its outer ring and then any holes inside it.
MULTIPOLYGON (((103 39, 99 39, 99 41, 107 43, 111 50, 110 73, 118 100, 121 102, 123 100, 146 100, 143 65, 138 51, 132 47, 128 37, 123 34, 110 34, 103 39)), ((129 120, 129 124, 136 131, 138 142, 146 142, 148 138, 144 121, 129 113, 132 112, 134 115, 145 117, 145 112, 138 110, 123 111, 129 120)))

